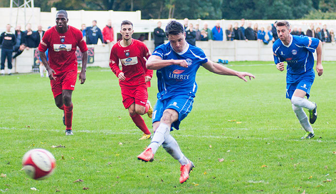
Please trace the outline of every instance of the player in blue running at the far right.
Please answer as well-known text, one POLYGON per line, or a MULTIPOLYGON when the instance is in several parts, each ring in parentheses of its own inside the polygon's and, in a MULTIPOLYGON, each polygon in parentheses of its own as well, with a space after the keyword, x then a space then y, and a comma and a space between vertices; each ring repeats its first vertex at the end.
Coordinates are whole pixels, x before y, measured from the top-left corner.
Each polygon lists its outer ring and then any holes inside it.
POLYGON ((310 88, 315 79, 313 69, 313 52, 315 50, 317 54, 316 70, 319 76, 323 73, 322 43, 317 38, 291 35, 288 21, 278 21, 275 25, 279 39, 273 44, 274 63, 279 71, 285 69, 284 61, 288 64, 286 98, 291 100, 293 111, 306 131, 301 139, 310 139, 315 135, 309 122, 313 124, 317 119, 317 105, 315 102, 305 99, 304 96, 309 98, 310 88), (303 108, 309 111, 309 122, 303 108))

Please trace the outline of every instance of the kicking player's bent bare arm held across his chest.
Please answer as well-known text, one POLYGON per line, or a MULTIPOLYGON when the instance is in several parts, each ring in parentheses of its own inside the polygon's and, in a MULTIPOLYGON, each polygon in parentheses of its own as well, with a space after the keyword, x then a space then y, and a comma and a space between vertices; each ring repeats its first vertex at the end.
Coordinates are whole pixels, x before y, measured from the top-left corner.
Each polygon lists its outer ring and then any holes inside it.
POLYGON ((146 68, 152 70, 158 70, 169 65, 188 67, 186 60, 162 60, 162 58, 157 55, 151 55, 146 62, 146 68))

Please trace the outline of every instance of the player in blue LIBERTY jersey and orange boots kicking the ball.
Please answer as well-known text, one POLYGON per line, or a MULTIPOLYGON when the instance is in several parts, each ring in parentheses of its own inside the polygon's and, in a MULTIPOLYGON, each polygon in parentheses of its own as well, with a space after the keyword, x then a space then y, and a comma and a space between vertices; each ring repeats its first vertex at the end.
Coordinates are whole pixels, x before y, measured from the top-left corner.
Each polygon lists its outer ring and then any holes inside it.
POLYGON ((152 162, 154 154, 162 147, 181 164, 180 183, 189 178, 193 163, 181 152, 170 130, 178 129, 180 122, 192 110, 193 98, 197 91, 196 72, 202 65, 220 75, 237 76, 247 81, 255 78, 251 73, 238 72, 214 63, 206 57, 202 49, 189 45, 182 24, 171 21, 166 26, 169 42, 157 47, 148 58, 146 67, 157 70, 158 101, 153 112, 153 130, 150 145, 138 156, 139 160, 152 162))

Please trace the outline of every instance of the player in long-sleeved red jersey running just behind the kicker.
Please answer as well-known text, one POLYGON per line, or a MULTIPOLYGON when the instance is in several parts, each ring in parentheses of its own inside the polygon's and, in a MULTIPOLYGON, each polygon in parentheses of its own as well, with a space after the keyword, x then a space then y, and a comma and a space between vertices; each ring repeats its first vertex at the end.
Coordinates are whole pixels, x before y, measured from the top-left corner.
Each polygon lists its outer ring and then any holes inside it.
POLYGON ((153 70, 146 68, 150 52, 143 42, 132 39, 132 22, 124 20, 120 33, 123 39, 112 47, 110 67, 119 79, 125 109, 128 109, 135 125, 144 132, 139 140, 149 139, 151 132, 140 115, 147 113, 149 118, 152 118, 153 113, 147 93, 147 86, 150 87, 153 76, 153 70), (119 68, 119 60, 122 70, 119 68))

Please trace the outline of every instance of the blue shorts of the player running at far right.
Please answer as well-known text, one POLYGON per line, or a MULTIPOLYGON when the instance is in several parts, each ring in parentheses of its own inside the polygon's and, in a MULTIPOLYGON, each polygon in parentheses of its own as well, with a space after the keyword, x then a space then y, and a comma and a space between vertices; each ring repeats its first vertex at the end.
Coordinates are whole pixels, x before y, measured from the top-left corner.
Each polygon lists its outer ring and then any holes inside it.
POLYGON ((305 96, 309 98, 310 88, 313 85, 314 79, 314 69, 300 75, 287 74, 286 98, 291 99, 296 89, 306 92, 305 96))

